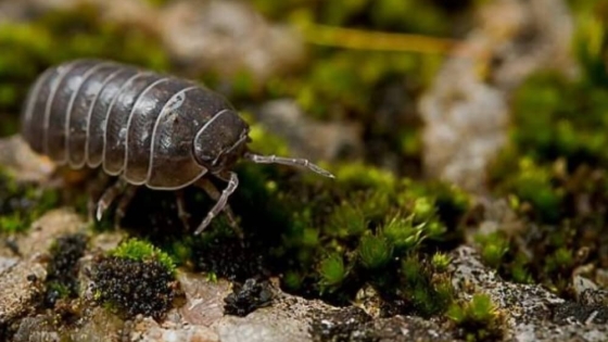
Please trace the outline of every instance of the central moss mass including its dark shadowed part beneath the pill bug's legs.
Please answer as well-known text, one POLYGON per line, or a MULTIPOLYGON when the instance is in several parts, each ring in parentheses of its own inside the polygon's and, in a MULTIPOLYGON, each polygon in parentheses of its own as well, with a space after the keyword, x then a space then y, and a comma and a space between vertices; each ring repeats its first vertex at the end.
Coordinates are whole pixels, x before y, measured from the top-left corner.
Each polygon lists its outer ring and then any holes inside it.
MULTIPOLYGON (((334 167, 335 181, 276 165, 243 163, 236 172, 240 186, 230 205, 244 240, 235 237, 224 215, 197 237, 175 227, 147 226, 139 233, 181 265, 238 283, 278 275, 283 290, 339 305, 371 284, 389 303, 387 312, 432 315, 447 307, 447 261, 435 267, 432 258, 463 241, 469 198, 458 189, 360 164, 334 167), (408 277, 402 275, 404 259, 416 262, 408 277)), ((202 207, 213 201, 197 189, 186 195, 191 221, 199 223, 206 213, 202 207)), ((145 212, 175 214, 175 207, 161 208, 161 201, 143 200, 150 205, 145 212)))

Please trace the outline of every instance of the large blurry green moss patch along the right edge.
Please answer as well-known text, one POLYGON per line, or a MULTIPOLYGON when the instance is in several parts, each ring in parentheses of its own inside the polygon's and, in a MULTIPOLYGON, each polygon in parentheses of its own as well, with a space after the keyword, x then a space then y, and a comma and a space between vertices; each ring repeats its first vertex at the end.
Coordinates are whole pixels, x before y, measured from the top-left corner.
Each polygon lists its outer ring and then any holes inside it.
POLYGON ((507 279, 539 282, 567 299, 574 299, 578 267, 608 266, 608 2, 572 5, 581 75, 542 71, 529 77, 514 97, 510 143, 491 167, 490 187, 509 198, 527 229, 478 238, 489 265, 507 279))

